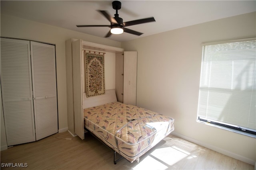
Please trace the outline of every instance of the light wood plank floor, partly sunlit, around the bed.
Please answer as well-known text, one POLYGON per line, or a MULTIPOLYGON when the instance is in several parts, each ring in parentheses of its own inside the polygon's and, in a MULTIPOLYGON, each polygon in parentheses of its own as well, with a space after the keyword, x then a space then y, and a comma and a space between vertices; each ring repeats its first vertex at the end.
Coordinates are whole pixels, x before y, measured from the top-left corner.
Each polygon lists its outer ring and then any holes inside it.
POLYGON ((168 135, 158 145, 132 164, 122 159, 115 165, 114 152, 100 141, 85 134, 85 140, 72 137, 68 132, 58 133, 40 141, 16 145, 1 151, 2 163, 27 163, 26 170, 169 170, 214 169, 254 170, 254 166, 230 158, 210 149, 168 135))

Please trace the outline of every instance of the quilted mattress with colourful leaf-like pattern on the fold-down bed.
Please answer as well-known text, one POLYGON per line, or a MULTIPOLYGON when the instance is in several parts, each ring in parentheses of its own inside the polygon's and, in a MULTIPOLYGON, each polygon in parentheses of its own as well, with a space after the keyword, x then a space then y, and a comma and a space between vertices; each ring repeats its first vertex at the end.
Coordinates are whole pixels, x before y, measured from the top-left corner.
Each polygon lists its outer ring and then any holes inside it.
POLYGON ((174 131, 174 119, 113 102, 84 109, 84 127, 133 162, 174 131))

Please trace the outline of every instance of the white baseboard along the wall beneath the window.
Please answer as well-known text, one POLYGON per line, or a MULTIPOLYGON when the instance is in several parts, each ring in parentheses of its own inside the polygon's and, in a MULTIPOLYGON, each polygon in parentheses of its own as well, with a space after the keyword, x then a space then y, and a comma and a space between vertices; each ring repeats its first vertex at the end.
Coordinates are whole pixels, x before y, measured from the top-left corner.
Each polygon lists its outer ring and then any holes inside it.
MULTIPOLYGON (((255 162, 254 160, 252 160, 252 159, 249 159, 249 158, 246 158, 246 157, 244 157, 244 156, 235 154, 235 153, 230 152, 230 151, 228 151, 228 150, 224 150, 224 149, 215 147, 215 146, 213 146, 213 145, 209 145, 209 144, 207 144, 207 143, 203 143, 203 142, 201 142, 201 141, 197 141, 197 140, 192 139, 192 138, 190 138, 190 137, 181 135, 180 133, 172 132, 172 135, 177 136, 177 137, 180 137, 180 138, 182 138, 182 139, 185 139, 185 140, 190 141, 190 142, 192 142, 192 143, 195 143, 195 144, 197 144, 197 145, 201 145, 202 147, 206 147, 206 148, 208 148, 208 149, 211 149, 211 150, 214 150, 214 151, 216 151, 216 152, 222 153, 222 154, 224 154, 224 155, 230 156, 230 157, 232 157, 232 158, 241 160, 241 161, 246 162, 246 163, 248 163, 248 164, 251 164, 251 165, 255 165, 255 164, 256 164, 256 162, 255 162)), ((255 166, 254 166, 254 169, 255 169, 255 166)))

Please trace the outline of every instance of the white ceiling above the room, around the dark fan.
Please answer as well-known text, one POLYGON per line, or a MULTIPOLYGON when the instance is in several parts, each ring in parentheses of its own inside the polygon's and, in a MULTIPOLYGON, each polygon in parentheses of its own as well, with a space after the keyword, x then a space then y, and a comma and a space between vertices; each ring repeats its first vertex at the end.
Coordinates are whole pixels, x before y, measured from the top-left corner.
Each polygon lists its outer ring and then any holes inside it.
MULTIPOLYGON (((195 25, 230 16, 256 11, 256 1, 250 0, 120 0, 118 10, 125 21, 154 17, 156 22, 128 26, 127 28, 144 34, 137 36, 129 33, 111 35, 108 39, 128 41, 195 25)), ((43 0, 13 1, 1 0, 1 14, 17 16, 40 23, 55 25, 82 33, 104 37, 108 27, 76 27, 76 25, 110 25, 109 21, 96 10, 107 10, 114 17, 116 11, 109 0, 43 0)))

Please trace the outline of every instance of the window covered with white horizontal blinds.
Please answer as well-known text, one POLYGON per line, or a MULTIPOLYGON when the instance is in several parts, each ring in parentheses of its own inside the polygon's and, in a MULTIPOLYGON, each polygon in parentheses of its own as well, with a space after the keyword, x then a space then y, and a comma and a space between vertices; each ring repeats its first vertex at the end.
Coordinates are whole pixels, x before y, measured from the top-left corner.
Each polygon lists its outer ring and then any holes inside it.
POLYGON ((256 39, 204 44, 198 121, 256 135, 256 39))

